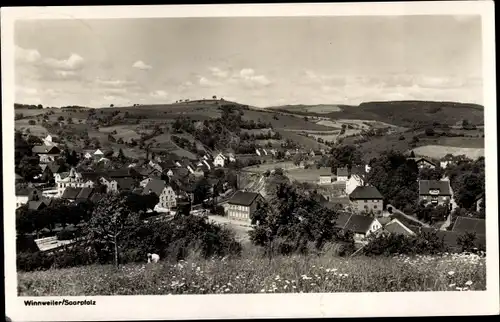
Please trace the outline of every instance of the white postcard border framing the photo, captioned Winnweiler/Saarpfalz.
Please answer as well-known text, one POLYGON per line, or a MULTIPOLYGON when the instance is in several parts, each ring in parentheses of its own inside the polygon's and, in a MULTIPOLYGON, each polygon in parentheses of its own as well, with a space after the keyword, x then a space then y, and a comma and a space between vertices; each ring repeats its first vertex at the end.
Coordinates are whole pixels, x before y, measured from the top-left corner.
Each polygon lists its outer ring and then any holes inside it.
MULTIPOLYGON (((499 313, 495 26, 492 1, 2 8, 2 132, 6 315, 13 321, 376 317, 499 313), (14 213, 14 21, 153 17, 481 15, 487 202, 487 290, 482 292, 96 296, 96 306, 25 307, 17 297, 14 213), (10 215, 9 215, 10 214, 10 215)), ((430 35, 431 37, 431 35, 430 35)), ((71 300, 84 297, 67 297, 71 300)))

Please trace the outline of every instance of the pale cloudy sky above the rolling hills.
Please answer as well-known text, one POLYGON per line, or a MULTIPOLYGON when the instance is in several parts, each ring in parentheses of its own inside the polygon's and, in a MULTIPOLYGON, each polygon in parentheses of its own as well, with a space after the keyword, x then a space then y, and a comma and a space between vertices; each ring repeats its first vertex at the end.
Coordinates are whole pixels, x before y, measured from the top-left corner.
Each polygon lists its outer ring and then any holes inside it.
POLYGON ((480 17, 18 21, 16 102, 482 103, 480 17))

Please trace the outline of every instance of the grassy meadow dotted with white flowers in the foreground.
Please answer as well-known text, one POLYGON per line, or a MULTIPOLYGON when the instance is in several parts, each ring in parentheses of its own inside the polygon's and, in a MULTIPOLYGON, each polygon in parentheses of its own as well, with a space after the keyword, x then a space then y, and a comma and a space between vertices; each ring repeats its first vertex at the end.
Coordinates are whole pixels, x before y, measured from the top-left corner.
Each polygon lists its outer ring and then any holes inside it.
POLYGON ((486 289, 477 256, 261 257, 87 266, 18 273, 19 296, 476 291, 486 289))

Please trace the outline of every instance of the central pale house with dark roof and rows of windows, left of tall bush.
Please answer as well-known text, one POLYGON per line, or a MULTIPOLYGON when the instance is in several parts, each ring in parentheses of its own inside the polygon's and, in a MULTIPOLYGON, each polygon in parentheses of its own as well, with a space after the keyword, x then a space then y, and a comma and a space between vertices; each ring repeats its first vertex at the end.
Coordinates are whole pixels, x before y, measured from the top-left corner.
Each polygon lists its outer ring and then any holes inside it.
POLYGON ((237 191, 227 202, 227 216, 229 219, 250 222, 251 215, 257 209, 257 205, 263 201, 264 198, 259 193, 237 191))

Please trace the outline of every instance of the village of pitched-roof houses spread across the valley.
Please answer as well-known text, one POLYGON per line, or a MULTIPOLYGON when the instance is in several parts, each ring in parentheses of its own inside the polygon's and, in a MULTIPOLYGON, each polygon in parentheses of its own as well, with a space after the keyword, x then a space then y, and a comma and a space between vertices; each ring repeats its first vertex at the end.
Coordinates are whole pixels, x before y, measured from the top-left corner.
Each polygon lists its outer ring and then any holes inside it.
MULTIPOLYGON (((29 135, 25 137, 29 139, 29 135)), ((122 151, 106 149, 73 151, 72 157, 76 160, 68 165, 63 160, 65 152, 61 143, 54 142, 51 135, 40 138, 40 143, 33 146, 16 146, 16 151, 23 149, 29 149, 38 158, 42 171, 30 182, 16 174, 16 208, 25 207, 32 212, 50 209, 56 200, 71 204, 95 203, 106 194, 152 194, 158 201, 148 212, 154 214, 156 220, 168 220, 180 212, 207 216, 212 222, 238 231, 240 240, 244 241, 248 239, 247 232, 255 226, 253 214, 259 204, 269 198, 265 184, 256 181, 265 181, 266 176, 279 170, 290 178, 298 172, 308 174, 309 179, 305 181, 320 192, 319 202, 339 211, 335 227, 351 232, 357 247, 365 245, 373 234, 414 236, 422 231, 435 231, 452 248, 458 247, 457 238, 465 233, 474 234, 479 244, 485 244, 484 218, 452 216, 458 206, 450 181, 444 175, 439 179, 418 180, 417 203, 445 209, 439 215, 441 218, 434 219, 437 224, 430 225, 414 213, 406 214, 403 209, 384 203, 381 192, 366 180, 370 165, 321 166, 319 160, 327 156, 325 150, 258 148, 253 155, 257 165, 235 168, 239 156, 234 153, 206 153, 197 160, 170 154, 128 162, 122 151), (119 167, 117 160, 120 160, 119 167), (245 174, 253 176, 243 182, 241 178, 245 174)), ((408 156, 419 171, 446 169, 458 159, 408 156)), ((300 176, 296 178, 301 180, 300 176)), ((480 207, 484 207, 484 194, 477 196, 474 202, 476 211, 480 211, 480 207)), ((60 233, 67 227, 51 228, 36 231, 39 251, 53 252, 74 242, 64 237, 68 234, 60 233)))

